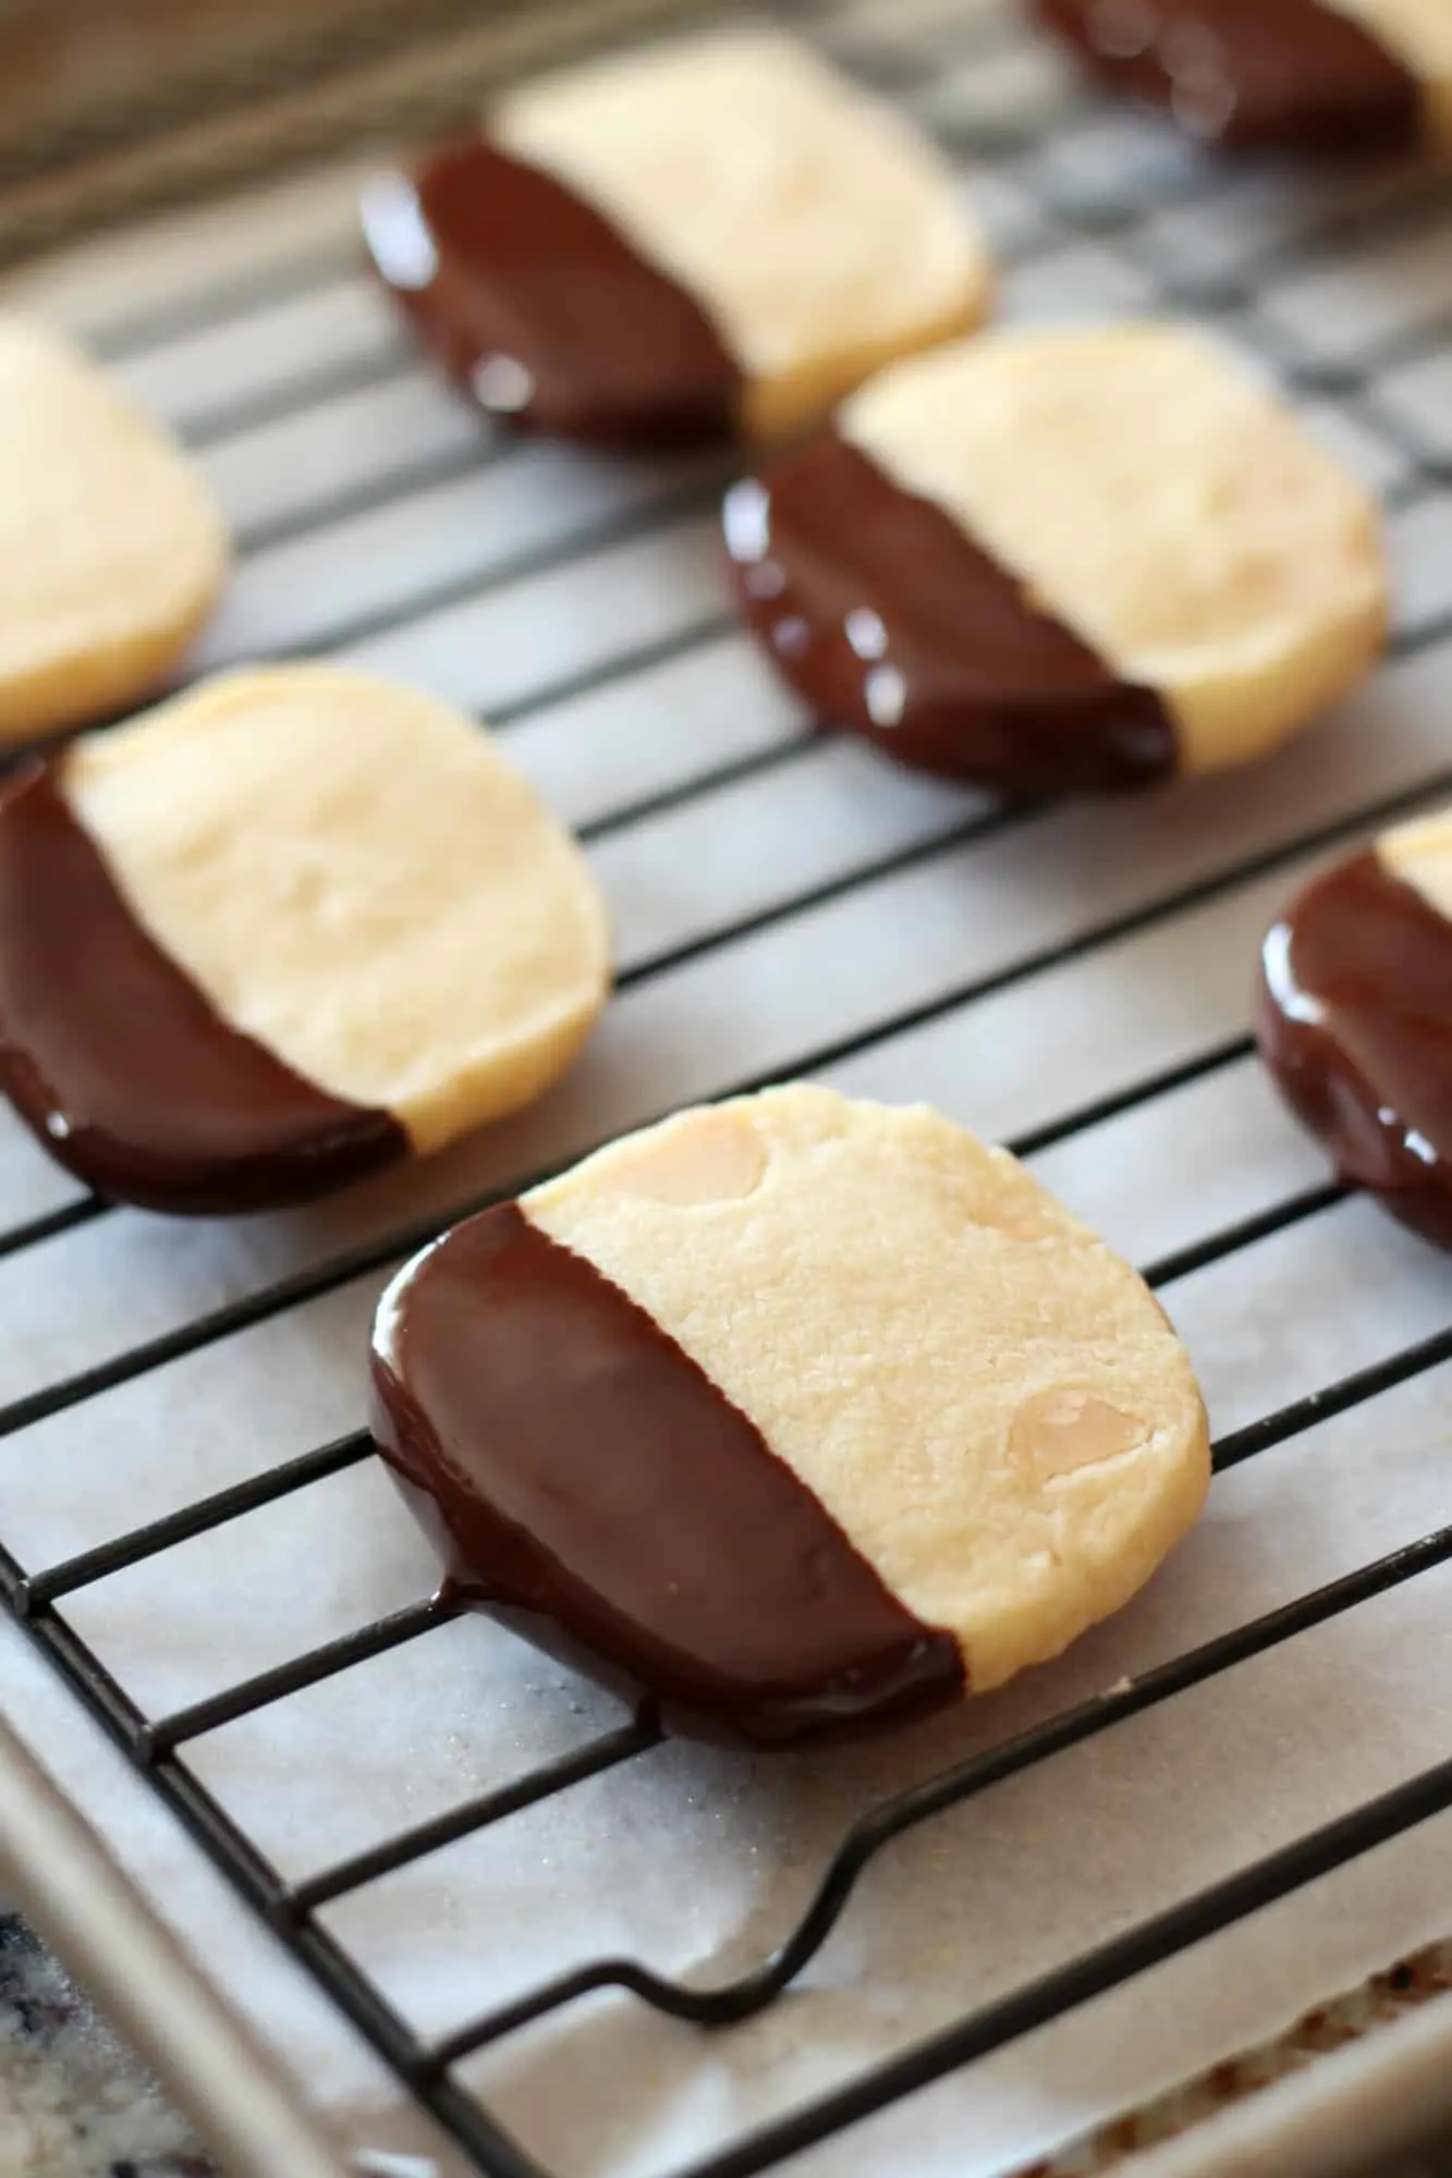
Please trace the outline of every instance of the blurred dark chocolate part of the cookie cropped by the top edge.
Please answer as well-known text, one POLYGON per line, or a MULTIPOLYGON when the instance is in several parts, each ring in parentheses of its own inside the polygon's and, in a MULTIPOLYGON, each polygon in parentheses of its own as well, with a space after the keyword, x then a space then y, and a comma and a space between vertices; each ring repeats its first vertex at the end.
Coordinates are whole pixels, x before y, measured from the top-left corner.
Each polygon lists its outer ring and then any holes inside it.
POLYGON ((1306 152, 1404 150, 1421 85, 1321 0, 1033 0, 1116 89, 1169 107, 1210 144, 1306 152))

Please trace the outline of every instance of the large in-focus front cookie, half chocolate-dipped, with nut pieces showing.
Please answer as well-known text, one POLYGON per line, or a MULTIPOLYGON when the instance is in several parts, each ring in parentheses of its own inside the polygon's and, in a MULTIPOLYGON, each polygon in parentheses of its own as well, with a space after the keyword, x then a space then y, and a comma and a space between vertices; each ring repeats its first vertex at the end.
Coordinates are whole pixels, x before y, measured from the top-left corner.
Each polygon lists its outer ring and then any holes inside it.
POLYGON ((667 1725, 791 1745, 1001 1686, 1195 1520, 1142 1281, 927 1106, 680 1113, 408 1263, 375 1435, 456 1594, 667 1725))

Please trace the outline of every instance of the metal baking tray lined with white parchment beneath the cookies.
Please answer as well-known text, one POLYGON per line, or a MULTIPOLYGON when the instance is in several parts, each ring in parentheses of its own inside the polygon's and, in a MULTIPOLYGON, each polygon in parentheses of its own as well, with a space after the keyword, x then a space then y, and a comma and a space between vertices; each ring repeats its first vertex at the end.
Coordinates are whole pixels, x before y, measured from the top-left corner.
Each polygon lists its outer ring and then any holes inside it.
POLYGON ((1317 858, 1452 797, 1452 183, 1217 163, 992 4, 776 15, 972 168, 1009 318, 1173 309, 1286 388, 1387 505, 1387 666, 1256 771, 1001 808, 770 682, 722 460, 508 440, 434 383, 358 266, 366 157, 13 272, 231 510, 196 671, 347 656, 488 717, 586 843, 619 995, 536 1113, 318 1213, 168 1226, 0 1133, 0 1845, 235 2171, 1352 2167, 1452 2119, 1439 1949, 1284 2041, 1452 1932, 1452 1272, 1326 1176, 1247 998, 1317 858), (449 1218, 794 1074, 942 1104, 1132 1252, 1217 1485, 1062 1664, 763 1769, 429 1599, 360 1339, 449 1218))

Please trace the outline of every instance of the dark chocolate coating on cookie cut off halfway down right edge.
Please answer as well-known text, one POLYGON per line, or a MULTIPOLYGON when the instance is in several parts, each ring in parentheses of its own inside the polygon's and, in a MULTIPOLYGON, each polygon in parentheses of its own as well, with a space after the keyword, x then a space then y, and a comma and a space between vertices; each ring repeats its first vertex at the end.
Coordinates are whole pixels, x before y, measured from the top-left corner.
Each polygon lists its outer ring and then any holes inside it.
POLYGON ((1345 1180, 1452 1248, 1452 923, 1356 854, 1262 947, 1260 1050, 1345 1180))

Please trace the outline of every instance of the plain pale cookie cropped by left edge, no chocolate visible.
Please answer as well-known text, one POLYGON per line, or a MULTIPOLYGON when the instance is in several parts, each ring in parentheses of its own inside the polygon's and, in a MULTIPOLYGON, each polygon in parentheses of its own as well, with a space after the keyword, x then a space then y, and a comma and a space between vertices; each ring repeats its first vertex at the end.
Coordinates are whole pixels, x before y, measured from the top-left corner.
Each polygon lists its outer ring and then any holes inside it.
POLYGON ((0 318, 0 741, 148 695, 225 573, 192 464, 72 346, 0 318))

